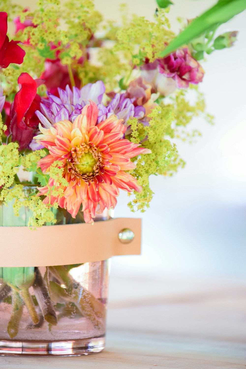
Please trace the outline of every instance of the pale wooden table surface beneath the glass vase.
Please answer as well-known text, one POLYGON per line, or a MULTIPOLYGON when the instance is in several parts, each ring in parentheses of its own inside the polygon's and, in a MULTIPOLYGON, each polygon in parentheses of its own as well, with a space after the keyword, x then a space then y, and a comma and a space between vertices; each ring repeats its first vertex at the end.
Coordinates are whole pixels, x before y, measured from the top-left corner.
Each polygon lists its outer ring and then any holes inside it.
POLYGON ((246 284, 113 277, 107 347, 77 357, 0 356, 0 368, 246 367, 246 284))

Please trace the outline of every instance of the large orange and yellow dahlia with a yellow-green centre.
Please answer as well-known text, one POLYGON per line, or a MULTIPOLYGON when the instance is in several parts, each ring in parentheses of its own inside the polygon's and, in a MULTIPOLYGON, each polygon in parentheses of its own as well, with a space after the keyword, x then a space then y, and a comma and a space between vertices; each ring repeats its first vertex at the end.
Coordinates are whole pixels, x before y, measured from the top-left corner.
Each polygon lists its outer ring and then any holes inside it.
MULTIPOLYGON (((63 120, 49 129, 40 124, 42 134, 35 137, 49 150, 49 155, 42 158, 38 166, 46 172, 59 160, 68 182, 62 196, 52 196, 51 191, 51 197, 47 196, 44 201, 58 202, 73 217, 82 204, 86 223, 93 223, 98 204, 99 211, 115 207, 119 189, 141 192, 137 180, 125 171, 136 168, 131 158, 151 152, 122 139, 127 127, 116 115, 96 125, 97 117, 98 108, 91 101, 73 123, 63 120)), ((49 187, 54 184, 54 180, 49 179, 49 187)), ((47 194, 48 186, 39 191, 39 195, 47 194)))

